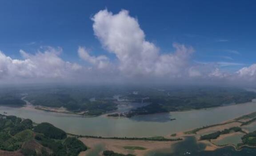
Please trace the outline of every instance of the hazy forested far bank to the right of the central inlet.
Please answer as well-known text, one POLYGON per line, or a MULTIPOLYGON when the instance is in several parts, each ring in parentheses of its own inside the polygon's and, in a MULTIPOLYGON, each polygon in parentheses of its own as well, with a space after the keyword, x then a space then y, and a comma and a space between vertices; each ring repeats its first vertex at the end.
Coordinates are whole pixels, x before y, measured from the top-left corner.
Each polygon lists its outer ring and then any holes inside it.
MULTIPOLYGON (((256 98, 255 92, 240 88, 180 88, 155 92, 156 94, 148 93, 149 98, 144 100, 144 102, 150 103, 149 105, 130 110, 126 116, 219 107, 247 103, 256 98)), ((140 97, 146 95, 145 92, 142 92, 140 97)), ((133 96, 133 98, 135 97, 138 98, 138 95, 133 96)))

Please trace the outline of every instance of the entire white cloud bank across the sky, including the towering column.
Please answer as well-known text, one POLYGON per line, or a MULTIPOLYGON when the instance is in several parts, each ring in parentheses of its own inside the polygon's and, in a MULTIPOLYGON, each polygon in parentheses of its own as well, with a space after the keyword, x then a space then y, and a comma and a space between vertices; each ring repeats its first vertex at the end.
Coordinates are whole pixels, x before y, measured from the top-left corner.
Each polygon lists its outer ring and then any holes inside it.
MULTIPOLYGON (((92 17, 93 30, 104 55, 93 56, 85 47, 78 48, 78 56, 87 62, 78 65, 61 59, 61 48, 43 47, 34 54, 20 50, 22 59, 13 59, 0 51, 0 81, 12 79, 56 79, 81 81, 115 80, 256 80, 256 64, 235 73, 219 68, 243 65, 229 62, 200 63, 192 61, 194 49, 173 43, 174 51, 160 53, 160 48, 149 42, 138 20, 126 10, 113 14, 102 10, 92 17), (108 53, 112 53, 109 55, 108 53), (108 58, 107 56, 113 56, 108 58), (163 79, 164 78, 164 79, 163 79)), ((227 50, 226 50, 227 51, 227 50)), ((228 51, 235 53, 234 51, 228 51)), ((237 52, 236 52, 237 53, 237 52)), ((238 53, 237 53, 238 54, 238 53)))

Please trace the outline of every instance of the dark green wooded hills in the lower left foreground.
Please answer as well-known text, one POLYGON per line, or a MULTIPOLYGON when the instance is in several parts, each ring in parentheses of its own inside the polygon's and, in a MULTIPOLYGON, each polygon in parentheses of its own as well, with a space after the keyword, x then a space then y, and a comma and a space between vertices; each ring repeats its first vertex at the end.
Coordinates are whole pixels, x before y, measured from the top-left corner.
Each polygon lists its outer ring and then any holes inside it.
POLYGON ((0 150, 23 156, 78 156, 87 147, 49 123, 0 114, 0 150))

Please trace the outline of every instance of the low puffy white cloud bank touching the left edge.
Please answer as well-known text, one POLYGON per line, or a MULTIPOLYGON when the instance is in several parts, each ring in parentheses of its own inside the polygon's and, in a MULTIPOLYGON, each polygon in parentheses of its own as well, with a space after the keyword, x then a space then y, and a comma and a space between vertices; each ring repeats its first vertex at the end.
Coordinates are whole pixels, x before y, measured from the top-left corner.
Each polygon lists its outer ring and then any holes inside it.
POLYGON ((1 78, 64 78, 82 67, 76 63, 63 61, 59 55, 62 49, 44 47, 35 54, 20 50, 24 59, 12 59, 0 52, 1 78))

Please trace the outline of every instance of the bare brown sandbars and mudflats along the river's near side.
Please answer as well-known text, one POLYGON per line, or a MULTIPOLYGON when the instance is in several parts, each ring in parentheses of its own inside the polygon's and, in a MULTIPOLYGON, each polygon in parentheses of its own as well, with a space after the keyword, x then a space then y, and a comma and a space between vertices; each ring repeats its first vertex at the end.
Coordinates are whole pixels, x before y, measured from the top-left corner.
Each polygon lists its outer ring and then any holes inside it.
MULTIPOLYGON (((248 145, 236 145, 236 143, 228 143, 226 145, 217 145, 216 142, 221 141, 222 139, 225 139, 227 137, 234 137, 236 135, 242 135, 248 133, 246 130, 243 129, 242 124, 244 122, 247 122, 248 118, 254 118, 256 117, 256 112, 243 115, 238 118, 234 118, 232 120, 228 120, 225 122, 222 122, 220 124, 216 125, 209 125, 205 126, 202 128, 197 128, 197 129, 192 129, 187 132, 179 132, 176 133, 175 135, 169 135, 166 136, 166 138, 174 138, 171 136, 175 136, 175 138, 182 138, 184 139, 185 137, 195 137, 196 141, 198 143, 203 143, 205 146, 204 150, 205 151, 214 151, 219 148, 224 148, 227 146, 232 146, 235 148, 236 151, 240 151, 242 148, 255 148, 255 146, 248 146, 248 145), (244 121, 244 122, 242 122, 244 121), (222 134, 216 139, 211 139, 211 140, 200 140, 200 136, 216 132, 216 131, 221 131, 224 129, 230 129, 232 127, 240 127, 241 131, 239 132, 230 132, 226 134, 222 134), (188 133, 189 132, 189 133, 188 133)), ((90 150, 94 150, 96 145, 99 144, 104 144, 104 150, 112 150, 114 152, 119 152, 122 154, 134 154, 136 156, 145 156, 146 153, 150 151, 155 151, 159 149, 164 149, 164 148, 172 148, 172 146, 182 140, 177 140, 177 141, 143 141, 143 140, 120 140, 120 139, 108 139, 108 138, 90 138, 90 137, 80 137, 80 141, 82 141, 85 145, 88 145, 90 149, 87 151, 89 152, 90 150), (145 148, 145 150, 128 150, 124 148, 125 146, 138 146, 141 148, 145 148)), ((99 151, 100 155, 100 151, 99 151)), ((80 155, 84 156, 84 155, 80 155)))

